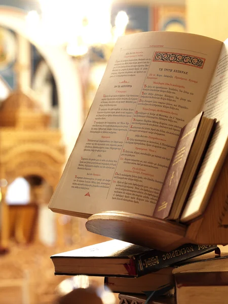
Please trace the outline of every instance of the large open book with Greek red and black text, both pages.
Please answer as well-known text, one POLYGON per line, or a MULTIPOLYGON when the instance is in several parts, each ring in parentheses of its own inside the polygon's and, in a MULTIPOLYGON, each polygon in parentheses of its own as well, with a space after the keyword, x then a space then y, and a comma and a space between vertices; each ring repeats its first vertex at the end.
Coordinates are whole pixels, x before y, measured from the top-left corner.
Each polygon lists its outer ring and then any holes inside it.
POLYGON ((188 33, 120 37, 49 208, 152 216, 180 130, 203 110, 216 129, 181 219, 202 214, 227 155, 227 52, 188 33))

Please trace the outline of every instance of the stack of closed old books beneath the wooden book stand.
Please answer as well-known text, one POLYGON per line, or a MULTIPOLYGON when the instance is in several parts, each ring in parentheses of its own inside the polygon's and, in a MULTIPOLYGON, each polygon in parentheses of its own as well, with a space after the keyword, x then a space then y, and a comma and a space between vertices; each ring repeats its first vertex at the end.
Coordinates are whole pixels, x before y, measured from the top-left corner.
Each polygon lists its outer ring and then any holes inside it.
POLYGON ((149 295, 153 295, 151 300, 172 303, 175 290, 177 299, 180 299, 178 303, 182 303, 182 298, 187 299, 188 294, 197 294, 199 300, 205 286, 210 286, 210 290, 214 286, 228 291, 224 286, 227 283, 225 278, 228 279, 224 272, 228 269, 228 256, 218 253, 217 246, 185 244, 164 252, 110 240, 55 254, 51 258, 56 275, 104 277, 104 287, 119 293, 120 302, 128 303, 134 298, 137 303, 144 303, 149 295), (202 273, 199 274, 200 270, 202 273), (208 276, 210 271, 213 274, 208 276))

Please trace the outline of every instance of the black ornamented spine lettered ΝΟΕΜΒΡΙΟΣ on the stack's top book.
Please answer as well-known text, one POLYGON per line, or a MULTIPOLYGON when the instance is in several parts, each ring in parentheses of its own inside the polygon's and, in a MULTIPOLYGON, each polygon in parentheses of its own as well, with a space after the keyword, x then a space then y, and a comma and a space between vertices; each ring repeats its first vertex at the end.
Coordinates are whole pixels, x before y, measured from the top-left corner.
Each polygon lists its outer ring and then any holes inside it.
POLYGON ((175 265, 176 263, 187 260, 204 253, 215 250, 217 246, 206 246, 196 244, 185 244, 172 251, 164 252, 160 250, 151 250, 147 253, 134 256, 136 276, 144 276, 146 274, 159 271, 165 267, 175 265))

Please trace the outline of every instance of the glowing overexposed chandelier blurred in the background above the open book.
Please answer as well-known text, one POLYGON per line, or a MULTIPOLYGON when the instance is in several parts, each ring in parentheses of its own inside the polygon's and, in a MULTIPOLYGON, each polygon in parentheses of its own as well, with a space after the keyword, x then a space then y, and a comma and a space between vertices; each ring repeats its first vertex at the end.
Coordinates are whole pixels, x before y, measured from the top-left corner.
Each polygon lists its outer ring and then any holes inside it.
POLYGON ((81 56, 91 46, 113 46, 125 33, 128 16, 120 11, 111 26, 112 0, 39 0, 41 13, 31 11, 28 30, 41 44, 64 46, 71 56, 81 56))

